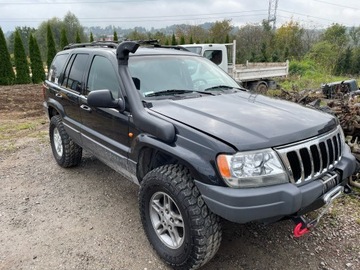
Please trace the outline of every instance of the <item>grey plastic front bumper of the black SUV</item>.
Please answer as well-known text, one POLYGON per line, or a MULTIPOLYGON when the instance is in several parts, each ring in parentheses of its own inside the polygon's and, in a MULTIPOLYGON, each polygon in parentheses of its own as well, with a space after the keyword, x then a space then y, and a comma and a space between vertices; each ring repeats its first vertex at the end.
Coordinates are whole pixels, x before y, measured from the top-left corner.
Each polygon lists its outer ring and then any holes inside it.
POLYGON ((355 157, 348 147, 333 174, 340 179, 329 188, 325 177, 297 186, 292 183, 247 189, 234 189, 207 185, 195 181, 210 210, 232 222, 246 223, 256 220, 280 219, 284 216, 305 214, 321 207, 316 201, 332 188, 345 185, 356 168, 355 157))

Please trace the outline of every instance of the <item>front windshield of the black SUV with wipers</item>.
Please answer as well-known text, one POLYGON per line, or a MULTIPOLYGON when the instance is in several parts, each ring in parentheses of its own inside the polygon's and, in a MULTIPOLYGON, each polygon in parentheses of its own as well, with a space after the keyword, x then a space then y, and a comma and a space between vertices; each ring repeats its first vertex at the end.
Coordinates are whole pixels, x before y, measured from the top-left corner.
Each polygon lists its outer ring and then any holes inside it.
POLYGON ((129 70, 143 97, 239 88, 222 69, 203 57, 154 55, 130 57, 129 70))

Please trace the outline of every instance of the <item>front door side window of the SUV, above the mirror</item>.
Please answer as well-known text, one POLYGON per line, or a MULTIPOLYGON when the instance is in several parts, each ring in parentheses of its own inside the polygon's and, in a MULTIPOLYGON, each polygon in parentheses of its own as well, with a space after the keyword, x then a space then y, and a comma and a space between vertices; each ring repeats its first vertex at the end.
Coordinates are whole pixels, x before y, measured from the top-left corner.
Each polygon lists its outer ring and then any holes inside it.
POLYGON ((96 55, 90 67, 85 95, 101 89, 109 89, 115 99, 119 97, 120 86, 113 65, 109 59, 96 55))

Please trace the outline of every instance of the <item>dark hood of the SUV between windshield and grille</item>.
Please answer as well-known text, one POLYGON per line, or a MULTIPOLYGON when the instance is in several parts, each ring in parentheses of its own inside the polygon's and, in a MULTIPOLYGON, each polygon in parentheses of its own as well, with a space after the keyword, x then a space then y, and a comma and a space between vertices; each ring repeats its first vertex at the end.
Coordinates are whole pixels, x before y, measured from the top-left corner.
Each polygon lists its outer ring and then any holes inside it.
POLYGON ((238 151, 294 143, 337 126, 330 114, 248 92, 159 100, 150 110, 207 133, 238 151))

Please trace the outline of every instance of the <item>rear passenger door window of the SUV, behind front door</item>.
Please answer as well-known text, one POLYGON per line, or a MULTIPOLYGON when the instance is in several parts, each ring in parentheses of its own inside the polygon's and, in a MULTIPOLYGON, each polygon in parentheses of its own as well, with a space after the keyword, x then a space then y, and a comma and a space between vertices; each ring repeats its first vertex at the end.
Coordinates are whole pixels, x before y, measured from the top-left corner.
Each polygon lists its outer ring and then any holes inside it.
POLYGON ((72 56, 72 58, 75 59, 74 61, 71 59, 66 67, 63 86, 76 92, 81 92, 81 82, 88 57, 88 54, 77 54, 76 56, 72 56))

